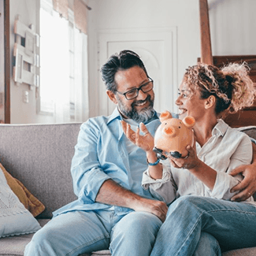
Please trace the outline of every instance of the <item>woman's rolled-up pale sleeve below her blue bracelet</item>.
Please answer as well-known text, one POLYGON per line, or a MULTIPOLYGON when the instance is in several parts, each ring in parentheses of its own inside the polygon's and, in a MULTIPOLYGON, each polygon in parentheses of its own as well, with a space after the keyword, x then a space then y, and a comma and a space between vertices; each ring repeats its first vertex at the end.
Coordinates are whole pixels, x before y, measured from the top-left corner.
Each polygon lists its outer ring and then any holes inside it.
POLYGON ((169 165, 162 165, 163 174, 161 179, 154 180, 150 177, 149 169, 143 173, 142 185, 144 189, 149 189, 150 194, 166 204, 173 202, 176 198, 176 184, 170 172, 169 165))

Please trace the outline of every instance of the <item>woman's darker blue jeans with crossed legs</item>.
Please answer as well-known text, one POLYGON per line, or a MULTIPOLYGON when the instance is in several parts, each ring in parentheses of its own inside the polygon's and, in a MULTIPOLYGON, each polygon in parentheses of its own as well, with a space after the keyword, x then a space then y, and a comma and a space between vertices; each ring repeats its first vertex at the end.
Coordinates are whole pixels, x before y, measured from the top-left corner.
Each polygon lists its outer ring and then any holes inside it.
MULTIPOLYGON (((256 207, 244 202, 180 197, 169 206, 151 255, 193 255, 202 236, 208 235, 212 239, 208 243, 212 243, 214 250, 217 250, 217 242, 223 251, 255 247, 255 220, 256 207)), ((221 252, 216 254, 221 255, 221 252)))

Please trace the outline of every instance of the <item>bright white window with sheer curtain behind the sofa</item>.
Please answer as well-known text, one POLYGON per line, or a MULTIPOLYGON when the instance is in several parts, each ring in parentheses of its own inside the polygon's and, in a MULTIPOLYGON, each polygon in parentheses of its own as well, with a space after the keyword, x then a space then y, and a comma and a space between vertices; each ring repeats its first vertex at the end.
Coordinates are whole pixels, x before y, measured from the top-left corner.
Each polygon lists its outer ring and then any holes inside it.
POLYGON ((88 117, 87 35, 41 0, 40 113, 55 123, 85 121, 88 117))

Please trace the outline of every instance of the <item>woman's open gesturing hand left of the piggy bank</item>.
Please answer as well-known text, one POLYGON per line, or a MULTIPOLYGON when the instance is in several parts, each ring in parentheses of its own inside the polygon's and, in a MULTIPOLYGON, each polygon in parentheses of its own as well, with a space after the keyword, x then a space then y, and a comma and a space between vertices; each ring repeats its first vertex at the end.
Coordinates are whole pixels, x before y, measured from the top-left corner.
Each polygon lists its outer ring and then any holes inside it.
POLYGON ((154 148, 154 137, 148 132, 145 124, 140 123, 137 131, 134 132, 131 125, 125 121, 121 121, 122 128, 126 137, 132 141, 135 145, 142 148, 143 150, 152 151, 154 148), (144 135, 139 135, 139 129, 144 133, 144 135))

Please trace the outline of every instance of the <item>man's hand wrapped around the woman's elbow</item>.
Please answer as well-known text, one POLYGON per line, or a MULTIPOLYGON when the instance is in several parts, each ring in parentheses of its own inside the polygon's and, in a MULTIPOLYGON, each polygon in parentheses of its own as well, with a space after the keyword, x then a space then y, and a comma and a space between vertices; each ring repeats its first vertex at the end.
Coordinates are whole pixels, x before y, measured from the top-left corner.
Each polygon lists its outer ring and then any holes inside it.
POLYGON ((239 191, 234 195, 231 200, 240 202, 254 195, 256 191, 256 145, 252 143, 253 147, 253 160, 250 165, 241 165, 230 173, 232 176, 236 176, 241 173, 244 179, 236 187, 232 187, 231 192, 239 191))

